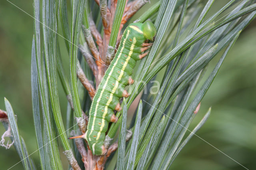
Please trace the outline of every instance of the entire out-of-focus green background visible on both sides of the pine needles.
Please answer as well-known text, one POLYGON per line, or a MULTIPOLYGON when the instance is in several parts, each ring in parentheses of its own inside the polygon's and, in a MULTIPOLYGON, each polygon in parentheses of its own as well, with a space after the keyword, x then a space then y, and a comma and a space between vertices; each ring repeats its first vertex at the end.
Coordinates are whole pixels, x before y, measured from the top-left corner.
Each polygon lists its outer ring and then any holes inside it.
MULTIPOLYGON (((33 15, 32 0, 11 2, 33 15)), ((224 2, 226 1, 216 1, 215 8, 224 2)), ((28 14, 6 0, 0 1, 0 109, 5 110, 6 97, 17 115, 20 134, 32 153, 37 148, 30 93, 33 18, 28 14)), ((63 40, 60 38, 60 41, 63 40)), ((210 63, 209 71, 219 57, 215 57, 210 63)), ((62 114, 65 116, 66 98, 62 89, 59 90, 62 114)), ((202 100, 200 111, 190 130, 202 119, 209 107, 212 107, 210 118, 196 134, 246 168, 255 169, 256 20, 242 32, 224 60, 216 79, 202 100)), ((0 125, 0 134, 4 131, 4 127, 0 125)), ((172 169, 243 169, 202 139, 194 136, 178 155, 172 169)), ((32 154, 32 158, 36 166, 39 166, 38 152, 32 154)), ((19 161, 13 146, 9 150, 0 147, 0 169, 10 168, 19 161)), ((22 169, 22 164, 19 163, 12 169, 22 169)))

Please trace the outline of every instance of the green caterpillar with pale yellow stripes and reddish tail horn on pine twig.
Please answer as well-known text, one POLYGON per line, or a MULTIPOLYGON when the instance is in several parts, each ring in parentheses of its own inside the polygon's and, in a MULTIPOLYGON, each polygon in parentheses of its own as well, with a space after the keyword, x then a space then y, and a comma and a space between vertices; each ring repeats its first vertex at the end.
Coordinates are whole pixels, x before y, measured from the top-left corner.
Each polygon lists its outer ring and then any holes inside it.
POLYGON ((150 21, 143 24, 130 24, 124 30, 116 55, 106 70, 92 100, 87 130, 81 136, 71 137, 86 139, 92 154, 106 153, 104 140, 108 123, 117 121, 114 110, 121 110, 119 99, 129 96, 124 87, 134 82, 131 75, 136 61, 148 54, 148 52, 142 52, 148 49, 152 43, 145 43, 145 41, 153 40, 155 34, 156 28, 150 21))

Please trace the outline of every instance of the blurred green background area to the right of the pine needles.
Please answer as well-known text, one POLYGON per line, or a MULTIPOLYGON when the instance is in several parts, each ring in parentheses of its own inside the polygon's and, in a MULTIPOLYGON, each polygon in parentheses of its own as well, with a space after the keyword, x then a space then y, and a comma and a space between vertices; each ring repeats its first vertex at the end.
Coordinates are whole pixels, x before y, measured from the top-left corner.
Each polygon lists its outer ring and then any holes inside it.
MULTIPOLYGON (((212 106, 212 112, 198 136, 237 160, 248 169, 256 167, 256 27, 251 23, 228 53, 216 79, 202 100, 191 124, 196 125, 212 106)), ((209 71, 214 67, 214 58, 209 71)), ((236 162, 194 136, 177 156, 173 169, 241 169, 236 162), (186 162, 186 163, 184 163, 186 162)))

